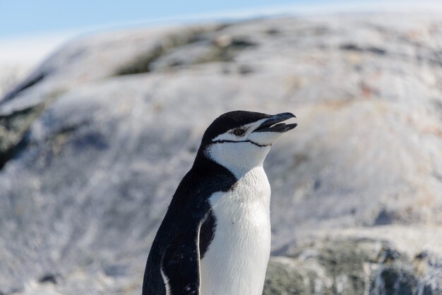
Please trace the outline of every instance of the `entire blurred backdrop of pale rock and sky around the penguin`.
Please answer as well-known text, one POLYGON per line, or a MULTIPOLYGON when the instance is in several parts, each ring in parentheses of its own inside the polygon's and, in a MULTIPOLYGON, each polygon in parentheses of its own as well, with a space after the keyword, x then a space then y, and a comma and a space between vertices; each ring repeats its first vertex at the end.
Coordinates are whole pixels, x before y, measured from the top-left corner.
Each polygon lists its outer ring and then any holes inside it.
POLYGON ((234 109, 299 124, 264 294, 442 294, 442 4, 393 0, 0 0, 0 294, 141 294, 234 109))

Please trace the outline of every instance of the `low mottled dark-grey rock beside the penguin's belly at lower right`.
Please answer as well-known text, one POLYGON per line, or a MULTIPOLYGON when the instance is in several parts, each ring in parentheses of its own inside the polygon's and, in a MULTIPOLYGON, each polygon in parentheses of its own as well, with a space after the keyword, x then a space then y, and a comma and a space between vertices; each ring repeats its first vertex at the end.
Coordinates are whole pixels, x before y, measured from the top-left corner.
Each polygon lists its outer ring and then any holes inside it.
POLYGON ((422 272, 419 263, 433 264, 424 260, 409 258, 386 241, 316 239, 270 260, 263 294, 440 294, 442 265, 422 272), (429 273, 438 278, 429 280, 429 273))

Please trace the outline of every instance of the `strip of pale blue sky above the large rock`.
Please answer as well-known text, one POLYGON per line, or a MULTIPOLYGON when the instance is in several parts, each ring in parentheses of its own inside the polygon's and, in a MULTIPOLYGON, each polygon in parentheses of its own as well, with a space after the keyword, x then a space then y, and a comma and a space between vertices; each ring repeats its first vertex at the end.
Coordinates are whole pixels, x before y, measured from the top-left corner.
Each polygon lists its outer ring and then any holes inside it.
MULTIPOLYGON (((329 0, 329 2, 333 0, 329 0)), ((97 28, 137 21, 182 18, 266 7, 294 6, 306 0, 0 0, 0 38, 97 28)), ((313 2, 327 2, 315 0, 313 2)))

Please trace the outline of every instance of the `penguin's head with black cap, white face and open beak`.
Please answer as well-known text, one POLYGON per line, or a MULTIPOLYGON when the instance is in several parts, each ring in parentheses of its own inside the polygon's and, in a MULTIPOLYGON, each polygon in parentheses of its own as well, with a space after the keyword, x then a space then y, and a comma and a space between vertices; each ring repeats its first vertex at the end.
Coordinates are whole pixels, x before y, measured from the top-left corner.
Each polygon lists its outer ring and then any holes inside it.
POLYGON ((282 123, 294 117, 246 111, 222 114, 205 131, 200 152, 232 172, 244 173, 262 165, 275 140, 297 126, 282 123))

